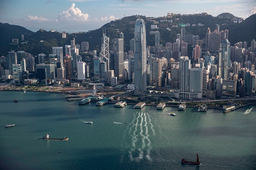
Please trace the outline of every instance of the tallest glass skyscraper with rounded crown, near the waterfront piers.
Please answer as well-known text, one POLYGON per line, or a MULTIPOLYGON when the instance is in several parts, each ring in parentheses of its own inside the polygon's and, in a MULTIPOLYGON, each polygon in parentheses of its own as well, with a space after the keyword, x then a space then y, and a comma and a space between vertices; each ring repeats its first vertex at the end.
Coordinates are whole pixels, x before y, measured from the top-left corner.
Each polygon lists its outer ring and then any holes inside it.
POLYGON ((134 29, 134 94, 143 96, 147 90, 147 47, 146 28, 142 18, 138 18, 134 29))

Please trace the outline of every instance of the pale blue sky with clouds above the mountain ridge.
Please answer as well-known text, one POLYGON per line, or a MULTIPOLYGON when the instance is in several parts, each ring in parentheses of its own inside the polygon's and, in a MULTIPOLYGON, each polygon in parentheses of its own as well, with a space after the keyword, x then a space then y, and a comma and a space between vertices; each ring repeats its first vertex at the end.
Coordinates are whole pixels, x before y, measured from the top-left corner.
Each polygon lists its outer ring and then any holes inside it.
POLYGON ((1 0, 0 9, 2 23, 73 33, 95 30, 124 16, 159 17, 168 12, 229 12, 246 19, 256 13, 256 0, 1 0))

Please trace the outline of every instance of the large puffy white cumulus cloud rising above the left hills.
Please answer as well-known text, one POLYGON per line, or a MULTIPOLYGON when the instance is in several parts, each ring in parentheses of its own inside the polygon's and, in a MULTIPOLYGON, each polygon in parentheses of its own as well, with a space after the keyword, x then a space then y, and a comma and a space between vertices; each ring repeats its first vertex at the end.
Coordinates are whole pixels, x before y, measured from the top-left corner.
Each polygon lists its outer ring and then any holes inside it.
POLYGON ((75 8, 75 3, 72 3, 71 7, 68 8, 68 10, 63 11, 58 16, 58 20, 63 21, 87 21, 88 18, 88 14, 84 14, 79 8, 75 8))

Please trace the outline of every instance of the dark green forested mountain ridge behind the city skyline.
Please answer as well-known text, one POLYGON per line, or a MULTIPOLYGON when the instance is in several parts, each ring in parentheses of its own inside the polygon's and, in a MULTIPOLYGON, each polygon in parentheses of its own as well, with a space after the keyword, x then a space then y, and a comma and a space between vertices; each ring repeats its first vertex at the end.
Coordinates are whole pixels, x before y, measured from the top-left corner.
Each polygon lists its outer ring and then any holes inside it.
MULTIPOLYGON (((172 18, 147 18, 145 16, 133 15, 128 16, 116 21, 111 21, 99 29, 91 30, 87 33, 67 33, 66 38, 62 38, 62 34, 59 32, 49 31, 37 31, 32 32, 17 25, 2 24, 0 23, 0 55, 8 55, 10 50, 25 51, 32 55, 38 55, 44 53, 52 53, 53 46, 62 46, 65 49, 65 45, 70 44, 70 40, 75 37, 75 43, 81 44, 83 41, 89 43, 89 50, 97 50, 100 52, 101 37, 103 30, 106 30, 106 36, 109 37, 109 50, 112 50, 112 39, 119 38, 119 32, 124 33, 124 51, 128 52, 130 49, 130 39, 134 37, 134 24, 137 18, 143 18, 146 26, 147 46, 154 46, 155 36, 150 35, 151 25, 155 22, 159 22, 158 31, 160 32, 160 44, 165 46, 165 43, 175 42, 177 34, 181 33, 181 25, 190 24, 190 27, 186 27, 186 34, 193 34, 200 36, 200 39, 205 38, 206 30, 209 27, 211 31, 215 29, 215 25, 220 25, 220 30, 229 30, 228 40, 231 46, 239 41, 247 41, 248 46, 252 39, 256 39, 256 29, 253 27, 256 25, 256 15, 251 15, 240 24, 234 24, 231 18, 213 17, 212 15, 187 15, 187 16, 172 16, 172 18), (162 20, 162 21, 161 21, 162 20), (167 21, 165 21, 167 20, 167 21), (172 22, 171 22, 172 20, 172 22), (198 26, 197 24, 203 26, 198 26), (196 24, 196 26, 192 26, 196 24), (172 27, 177 25, 177 27, 172 27), (160 27, 161 26, 161 27, 160 27), (167 30, 166 28, 169 28, 167 30), (21 34, 24 34, 25 41, 27 43, 21 44, 21 34), (19 45, 9 44, 12 42, 12 38, 19 39, 19 45)), ((63 51, 65 53, 65 51, 63 51)))

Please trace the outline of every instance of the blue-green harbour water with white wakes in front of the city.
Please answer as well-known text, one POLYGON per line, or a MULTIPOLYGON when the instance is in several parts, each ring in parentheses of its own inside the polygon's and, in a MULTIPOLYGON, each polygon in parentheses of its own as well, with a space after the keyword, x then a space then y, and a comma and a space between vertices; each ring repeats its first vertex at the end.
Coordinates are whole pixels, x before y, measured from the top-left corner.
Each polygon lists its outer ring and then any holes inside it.
POLYGON ((65 96, 0 91, 0 169, 256 169, 255 105, 228 113, 188 107, 178 112, 177 107, 79 106, 65 96), (69 140, 42 140, 47 133, 69 140), (182 158, 196 161, 197 153, 201 166, 181 164, 182 158))

